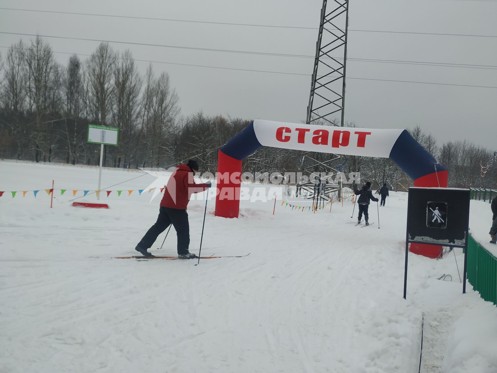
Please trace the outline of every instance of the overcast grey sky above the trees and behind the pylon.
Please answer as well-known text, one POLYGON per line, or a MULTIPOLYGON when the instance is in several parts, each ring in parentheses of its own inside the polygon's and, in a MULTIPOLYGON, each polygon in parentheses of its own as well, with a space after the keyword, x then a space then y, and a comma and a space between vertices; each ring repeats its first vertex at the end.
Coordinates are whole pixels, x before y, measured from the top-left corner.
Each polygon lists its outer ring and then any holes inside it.
MULTIPOLYGON (((321 0, 0 0, 0 7, 194 21, 318 27, 321 0)), ((329 1, 331 4, 332 1, 329 1)), ((329 5, 330 7, 330 5, 329 5)), ((351 0, 349 28, 497 36, 497 1, 351 0)), ((0 31, 121 42, 314 56, 317 29, 220 25, 0 9, 0 31)), ((0 34, 5 47, 21 36, 0 34)), ((26 41, 27 36, 22 36, 26 41)), ((55 52, 91 54, 98 42, 46 38, 55 52)), ((306 118, 313 58, 257 56, 111 43, 154 63, 179 94, 181 114, 299 123, 306 118)), ((0 48, 3 55, 6 49, 0 48)), ((66 64, 68 54, 55 54, 66 64)), ((486 69, 349 61, 347 77, 497 87, 497 37, 350 31, 348 56, 494 66, 486 69)), ((86 57, 82 56, 82 59, 86 57)), ((148 63, 138 62, 142 73, 148 63)), ((439 143, 468 139, 497 150, 497 89, 347 80, 345 120, 369 128, 419 124, 439 143)))

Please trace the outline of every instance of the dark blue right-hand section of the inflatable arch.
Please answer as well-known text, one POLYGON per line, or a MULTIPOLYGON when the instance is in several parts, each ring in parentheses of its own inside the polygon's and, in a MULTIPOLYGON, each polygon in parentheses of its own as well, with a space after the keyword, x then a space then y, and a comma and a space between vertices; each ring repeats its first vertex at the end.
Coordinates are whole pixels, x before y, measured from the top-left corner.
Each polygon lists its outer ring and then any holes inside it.
POLYGON ((432 174, 435 171, 447 171, 414 140, 407 130, 402 131, 400 134, 390 151, 389 158, 413 180, 432 174))

